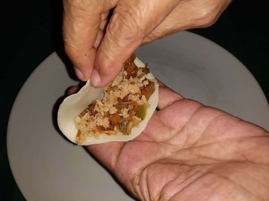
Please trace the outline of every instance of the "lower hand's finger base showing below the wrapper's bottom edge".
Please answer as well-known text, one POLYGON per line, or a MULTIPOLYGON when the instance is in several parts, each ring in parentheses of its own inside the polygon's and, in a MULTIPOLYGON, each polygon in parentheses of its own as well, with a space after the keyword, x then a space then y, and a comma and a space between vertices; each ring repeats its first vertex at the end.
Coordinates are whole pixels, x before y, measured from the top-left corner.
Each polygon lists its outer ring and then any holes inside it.
POLYGON ((103 144, 88 145, 89 151, 103 163, 111 172, 114 171, 117 159, 125 142, 106 142, 103 144))

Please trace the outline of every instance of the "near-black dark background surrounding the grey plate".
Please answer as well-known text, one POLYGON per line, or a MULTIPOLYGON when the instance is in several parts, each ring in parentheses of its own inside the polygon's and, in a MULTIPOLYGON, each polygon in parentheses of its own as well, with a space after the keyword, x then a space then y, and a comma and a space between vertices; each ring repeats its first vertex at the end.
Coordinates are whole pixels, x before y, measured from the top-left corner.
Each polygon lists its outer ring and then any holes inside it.
MULTIPOLYGON (((13 102, 25 80, 63 44, 62 3, 60 0, 0 2, 0 200, 25 200, 13 179, 7 160, 7 122, 13 102)), ((213 26, 189 30, 214 41, 237 57, 259 82, 267 100, 268 12, 266 0, 234 0, 213 26)))

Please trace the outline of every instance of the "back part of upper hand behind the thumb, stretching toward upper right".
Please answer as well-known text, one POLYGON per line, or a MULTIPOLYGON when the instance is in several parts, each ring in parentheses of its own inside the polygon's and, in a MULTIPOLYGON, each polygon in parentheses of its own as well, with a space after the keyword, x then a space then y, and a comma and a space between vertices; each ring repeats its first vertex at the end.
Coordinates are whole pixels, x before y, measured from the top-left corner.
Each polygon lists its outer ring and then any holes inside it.
POLYGON ((209 27, 227 8, 231 0, 181 1, 177 7, 144 40, 143 45, 175 32, 198 27, 209 27))

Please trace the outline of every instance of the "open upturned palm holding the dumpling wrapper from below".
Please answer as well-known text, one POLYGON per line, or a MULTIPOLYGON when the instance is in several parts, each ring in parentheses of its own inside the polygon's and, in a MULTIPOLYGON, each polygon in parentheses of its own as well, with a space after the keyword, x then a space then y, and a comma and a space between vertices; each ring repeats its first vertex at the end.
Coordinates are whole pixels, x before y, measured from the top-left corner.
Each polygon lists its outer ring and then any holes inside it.
POLYGON ((140 200, 268 200, 269 133, 159 84, 143 133, 94 156, 140 200))

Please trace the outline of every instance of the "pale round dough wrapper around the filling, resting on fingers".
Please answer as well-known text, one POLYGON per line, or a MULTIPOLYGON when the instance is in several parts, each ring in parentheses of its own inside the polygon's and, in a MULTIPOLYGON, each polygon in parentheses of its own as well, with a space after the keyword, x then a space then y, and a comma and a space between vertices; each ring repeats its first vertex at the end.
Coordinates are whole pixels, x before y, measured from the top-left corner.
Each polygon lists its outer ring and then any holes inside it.
MULTIPOLYGON (((139 59, 135 59, 135 64, 138 68, 144 68, 145 64, 139 59)), ((149 80, 154 80, 152 73, 146 76, 149 80)), ((72 142, 76 143, 76 137, 78 129, 74 118, 79 116, 79 114, 88 107, 88 105, 95 101, 96 99, 102 100, 104 97, 104 91, 107 86, 103 88, 94 88, 90 85, 90 80, 88 80, 77 94, 73 94, 64 99, 58 110, 58 126, 62 133, 72 142)), ((154 93, 150 96, 148 103, 150 107, 147 110, 146 118, 139 123, 139 128, 133 127, 130 135, 123 135, 121 132, 117 131, 116 135, 106 135, 102 133, 99 135, 99 139, 94 136, 88 136, 86 141, 82 142, 80 145, 90 145, 90 144, 100 144, 109 141, 129 141, 135 138, 137 135, 142 133, 145 129, 149 119, 154 113, 157 103, 158 103, 159 87, 155 87, 154 93)), ((116 128, 114 129, 116 130, 116 128)))

